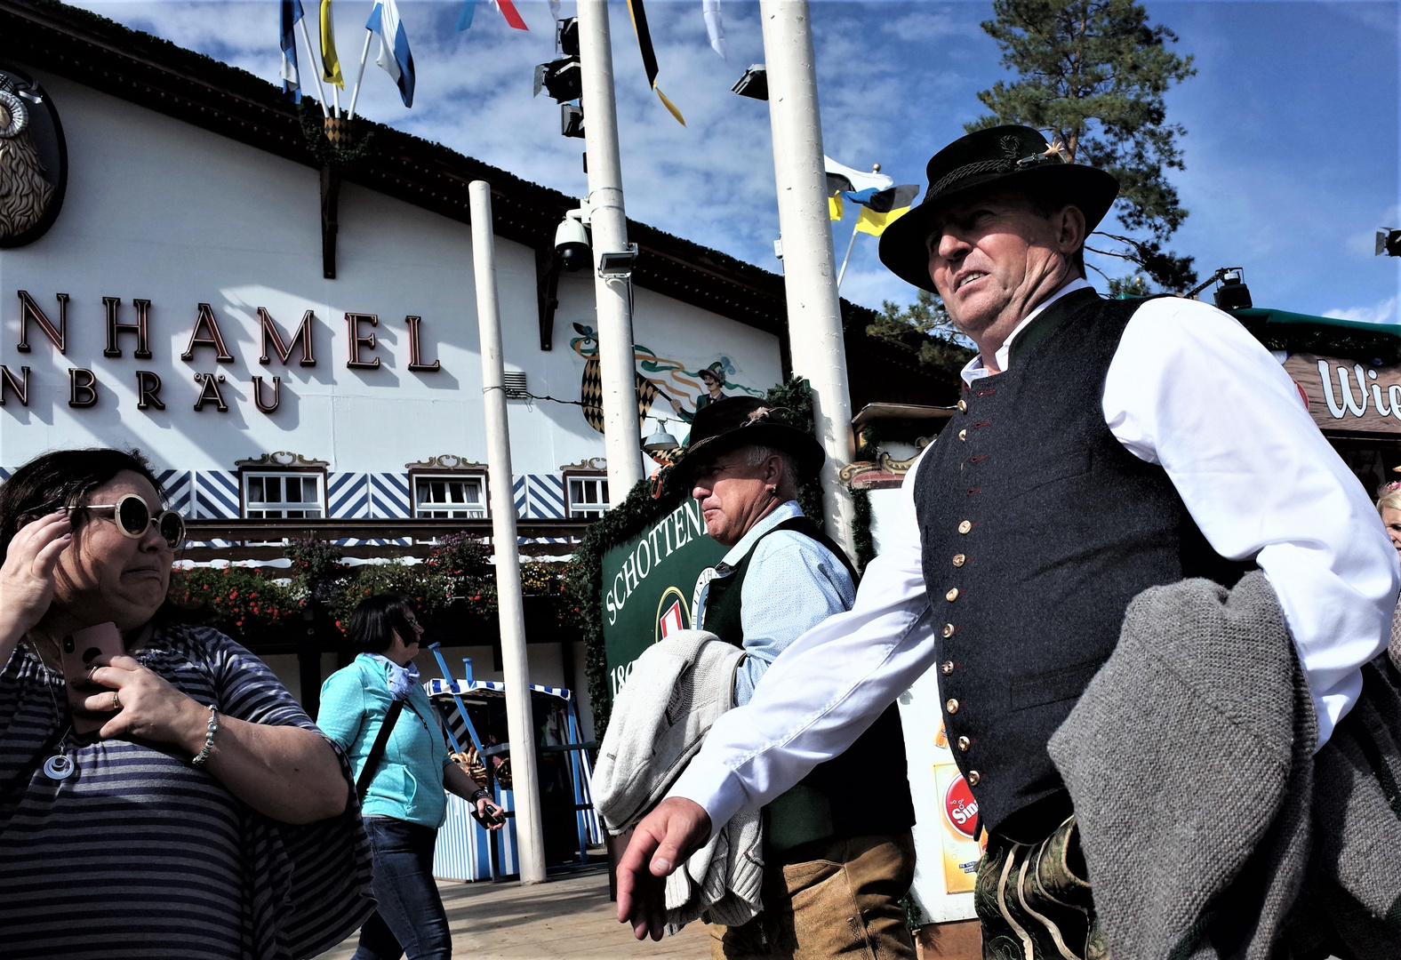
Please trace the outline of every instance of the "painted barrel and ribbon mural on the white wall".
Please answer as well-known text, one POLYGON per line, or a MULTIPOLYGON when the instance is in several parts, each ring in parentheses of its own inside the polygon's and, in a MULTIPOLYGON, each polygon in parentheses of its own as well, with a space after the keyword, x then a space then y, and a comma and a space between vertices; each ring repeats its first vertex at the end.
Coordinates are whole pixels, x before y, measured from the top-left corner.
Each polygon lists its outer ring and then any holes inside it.
MULTIPOLYGON (((604 432, 602 408, 602 378, 598 373, 598 334, 593 327, 574 324, 579 336, 569 341, 569 346, 584 359, 584 376, 579 385, 579 399, 583 404, 584 419, 588 426, 600 433, 604 432)), ((657 356, 654 350, 633 343, 637 378, 637 416, 657 416, 651 413, 653 404, 658 398, 671 405, 672 412, 689 423, 696 412, 723 397, 748 394, 764 397, 762 390, 755 390, 747 384, 733 380, 737 376, 730 357, 722 356, 709 366, 688 367, 681 360, 670 360, 657 356)), ((660 419, 668 419, 665 416, 660 419)))

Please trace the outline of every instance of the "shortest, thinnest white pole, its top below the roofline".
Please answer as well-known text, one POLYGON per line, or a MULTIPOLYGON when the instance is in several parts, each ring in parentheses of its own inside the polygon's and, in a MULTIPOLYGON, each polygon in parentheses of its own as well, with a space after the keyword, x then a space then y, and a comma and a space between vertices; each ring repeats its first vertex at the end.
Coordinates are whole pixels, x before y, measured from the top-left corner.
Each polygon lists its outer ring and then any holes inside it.
POLYGON ((506 371, 502 314, 496 300, 496 248, 492 235, 492 186, 468 185, 472 216, 472 272, 476 277, 476 324, 482 341, 482 399, 486 405, 486 464, 492 488, 492 538, 496 547, 496 593, 502 625, 502 674, 506 680, 506 730, 511 743, 516 788, 516 841, 521 883, 545 882, 545 835, 535 772, 535 723, 525 659, 525 610, 511 498, 511 441, 506 423, 506 371))

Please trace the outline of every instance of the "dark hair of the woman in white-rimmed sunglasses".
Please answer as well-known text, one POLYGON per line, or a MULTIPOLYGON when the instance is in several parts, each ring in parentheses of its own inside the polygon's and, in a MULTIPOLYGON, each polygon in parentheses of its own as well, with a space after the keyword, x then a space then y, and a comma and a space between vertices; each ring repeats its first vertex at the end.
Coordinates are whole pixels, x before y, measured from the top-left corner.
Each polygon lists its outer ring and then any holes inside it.
MULTIPOLYGON (((165 488, 156 479, 140 450, 52 450, 14 471, 0 485, 0 558, 10 549, 20 527, 59 507, 85 505, 92 491, 127 469, 150 481, 161 503, 167 502, 165 488)), ((81 514, 74 514, 74 526, 81 521, 81 514)))

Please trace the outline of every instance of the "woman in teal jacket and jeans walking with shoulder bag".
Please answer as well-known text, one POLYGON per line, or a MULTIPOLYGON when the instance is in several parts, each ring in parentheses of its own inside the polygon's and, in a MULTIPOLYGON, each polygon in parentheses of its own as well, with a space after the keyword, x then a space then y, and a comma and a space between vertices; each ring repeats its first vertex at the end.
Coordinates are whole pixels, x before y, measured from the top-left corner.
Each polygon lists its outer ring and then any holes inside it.
POLYGON ((481 816, 497 811, 486 790, 448 758, 439 718, 413 666, 422 635, 403 597, 385 593, 364 600, 350 617, 350 642, 360 654, 321 688, 317 726, 346 751, 357 782, 389 705, 403 701, 360 804, 378 910, 360 928, 354 960, 453 956, 447 914, 433 882, 433 845, 447 816, 443 790, 475 803, 481 816))

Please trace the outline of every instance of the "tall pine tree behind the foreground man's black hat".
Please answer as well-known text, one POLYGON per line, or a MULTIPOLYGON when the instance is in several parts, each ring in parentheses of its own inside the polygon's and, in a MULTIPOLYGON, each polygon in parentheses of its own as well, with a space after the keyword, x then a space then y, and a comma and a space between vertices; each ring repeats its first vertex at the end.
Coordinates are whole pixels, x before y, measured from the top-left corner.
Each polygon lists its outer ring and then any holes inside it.
POLYGON ((967 129, 1054 132, 1072 163, 1107 170, 1122 185, 1114 212, 1126 234, 1096 231, 1111 244, 1087 249, 1136 263, 1167 290, 1192 286, 1192 258, 1163 248, 1188 213, 1166 177, 1182 170, 1177 137, 1187 130, 1167 122, 1163 94, 1196 73, 1191 56, 1168 49, 1177 35, 1149 24, 1131 0, 993 0, 992 10, 982 28, 1019 80, 978 94, 992 116, 967 129))

